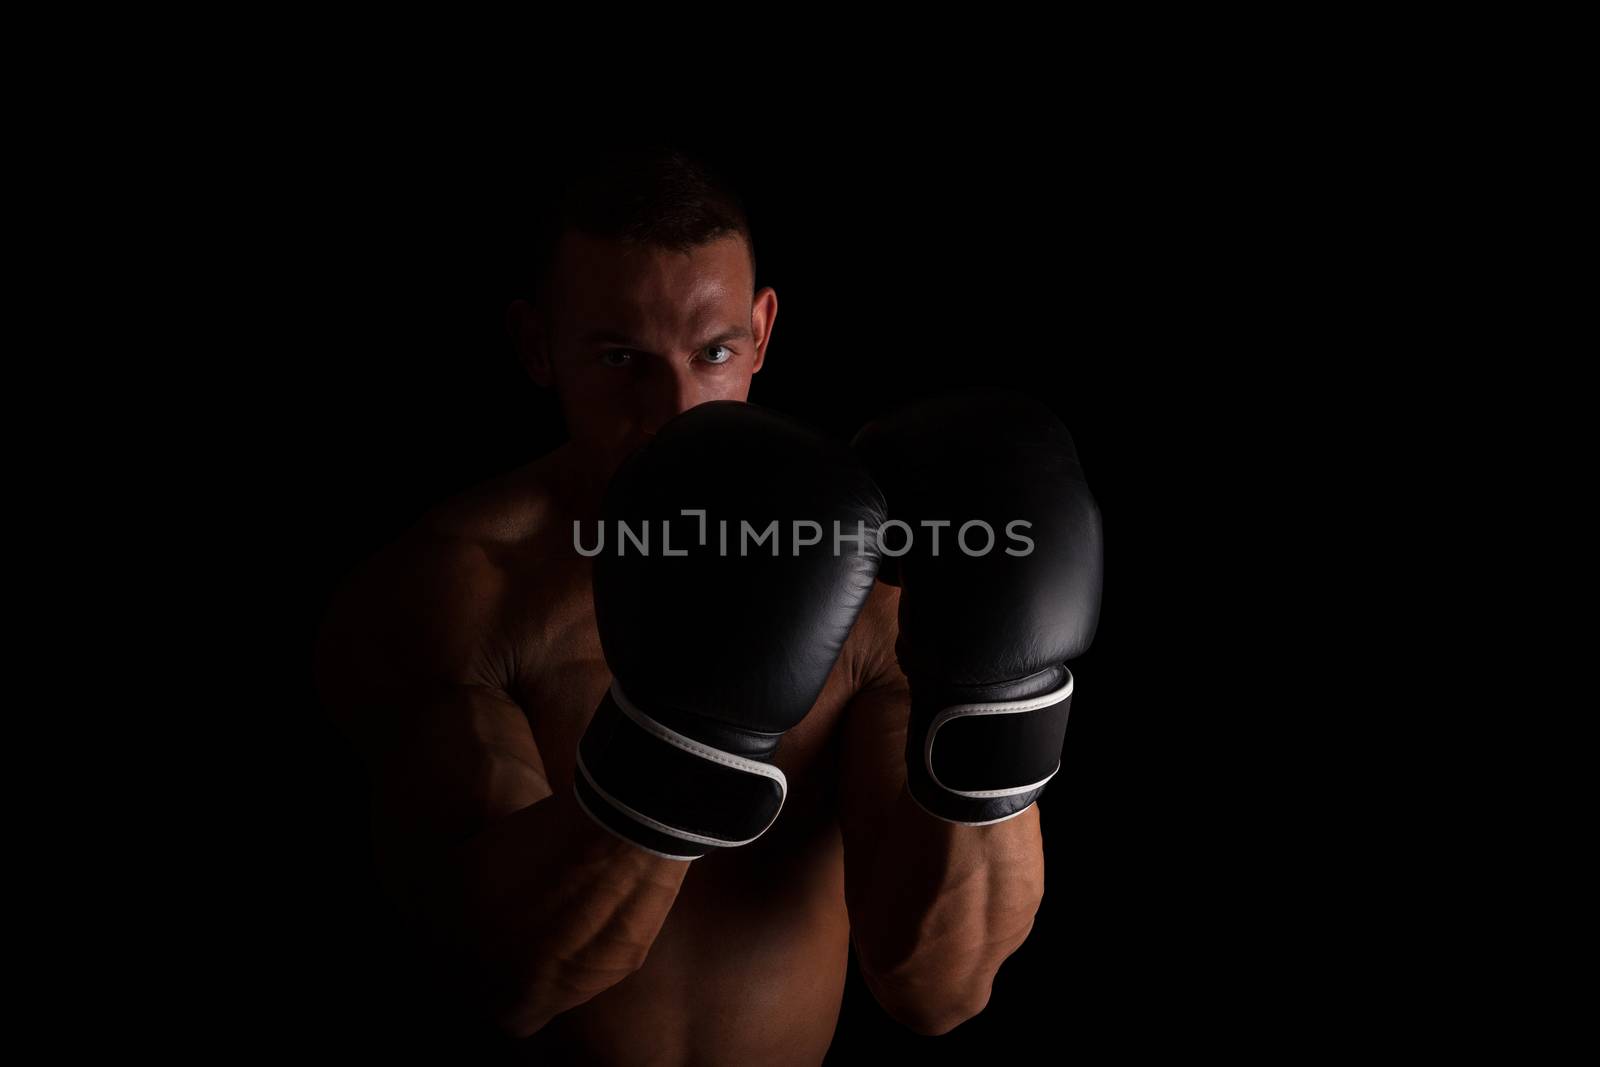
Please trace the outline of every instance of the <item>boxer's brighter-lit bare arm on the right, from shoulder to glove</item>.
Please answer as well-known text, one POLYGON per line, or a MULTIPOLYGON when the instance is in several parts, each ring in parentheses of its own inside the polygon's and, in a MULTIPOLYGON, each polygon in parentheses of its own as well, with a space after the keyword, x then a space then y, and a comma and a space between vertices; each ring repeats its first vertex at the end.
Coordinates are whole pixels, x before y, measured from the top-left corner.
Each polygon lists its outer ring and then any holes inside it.
POLYGON ((843 715, 845 902, 874 997, 933 1035, 989 1003, 995 973, 1034 928, 1045 857, 1038 805, 970 827, 934 819, 907 792, 910 691, 894 662, 898 603, 899 590, 878 584, 862 625, 882 637, 843 715))

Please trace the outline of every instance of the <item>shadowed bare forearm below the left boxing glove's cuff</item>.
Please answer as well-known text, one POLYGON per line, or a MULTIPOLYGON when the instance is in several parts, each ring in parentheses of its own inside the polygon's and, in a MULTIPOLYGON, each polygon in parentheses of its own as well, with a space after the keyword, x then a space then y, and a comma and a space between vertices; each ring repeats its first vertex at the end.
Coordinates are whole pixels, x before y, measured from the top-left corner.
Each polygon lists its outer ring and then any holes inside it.
POLYGON ((475 1006, 523 1037, 643 965, 688 867, 558 790, 435 864, 422 913, 475 1006))

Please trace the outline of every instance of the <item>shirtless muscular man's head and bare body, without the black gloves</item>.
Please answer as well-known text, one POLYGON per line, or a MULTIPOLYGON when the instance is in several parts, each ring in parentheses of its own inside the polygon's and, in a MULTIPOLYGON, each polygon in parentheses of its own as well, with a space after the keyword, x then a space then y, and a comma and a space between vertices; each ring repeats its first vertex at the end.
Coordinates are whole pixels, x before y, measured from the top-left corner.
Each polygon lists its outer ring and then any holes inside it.
MULTIPOLYGON (((568 443, 379 552, 318 640, 323 701, 370 765, 384 885, 435 949, 442 989, 541 1062, 818 1064, 851 944, 885 1011, 944 1033, 984 1008, 1032 929, 1040 790, 1003 817, 936 817, 914 798, 896 585, 872 585, 782 736, 787 798, 757 840, 669 859, 578 801, 579 739, 611 670, 574 520, 595 530, 619 461, 672 416, 746 400, 778 315, 738 200, 691 160, 618 182, 566 202, 536 304, 507 312, 568 443)), ((704 656, 682 670, 707 669, 715 643, 704 656)), ((987 677, 1018 677, 1005 667, 987 677)))

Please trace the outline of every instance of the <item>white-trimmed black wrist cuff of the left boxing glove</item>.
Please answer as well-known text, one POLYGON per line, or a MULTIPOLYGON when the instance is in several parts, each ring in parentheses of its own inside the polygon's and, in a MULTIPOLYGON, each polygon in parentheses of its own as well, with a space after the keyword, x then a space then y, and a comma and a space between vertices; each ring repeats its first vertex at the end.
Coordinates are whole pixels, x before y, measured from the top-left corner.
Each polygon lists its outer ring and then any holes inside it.
POLYGON ((789 792, 771 763, 672 729, 614 680, 578 744, 573 790, 606 830, 667 859, 699 859, 762 837, 789 792))

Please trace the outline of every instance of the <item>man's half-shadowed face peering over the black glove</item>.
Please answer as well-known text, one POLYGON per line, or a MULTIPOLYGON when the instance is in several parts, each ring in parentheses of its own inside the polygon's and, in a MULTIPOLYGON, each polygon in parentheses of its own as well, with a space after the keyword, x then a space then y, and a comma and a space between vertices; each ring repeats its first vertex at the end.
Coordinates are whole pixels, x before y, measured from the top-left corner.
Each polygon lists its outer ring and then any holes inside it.
POLYGON ((554 277, 552 318, 518 312, 518 342, 595 459, 621 459, 698 403, 749 397, 778 298, 752 296, 742 237, 680 253, 568 230, 554 277))

